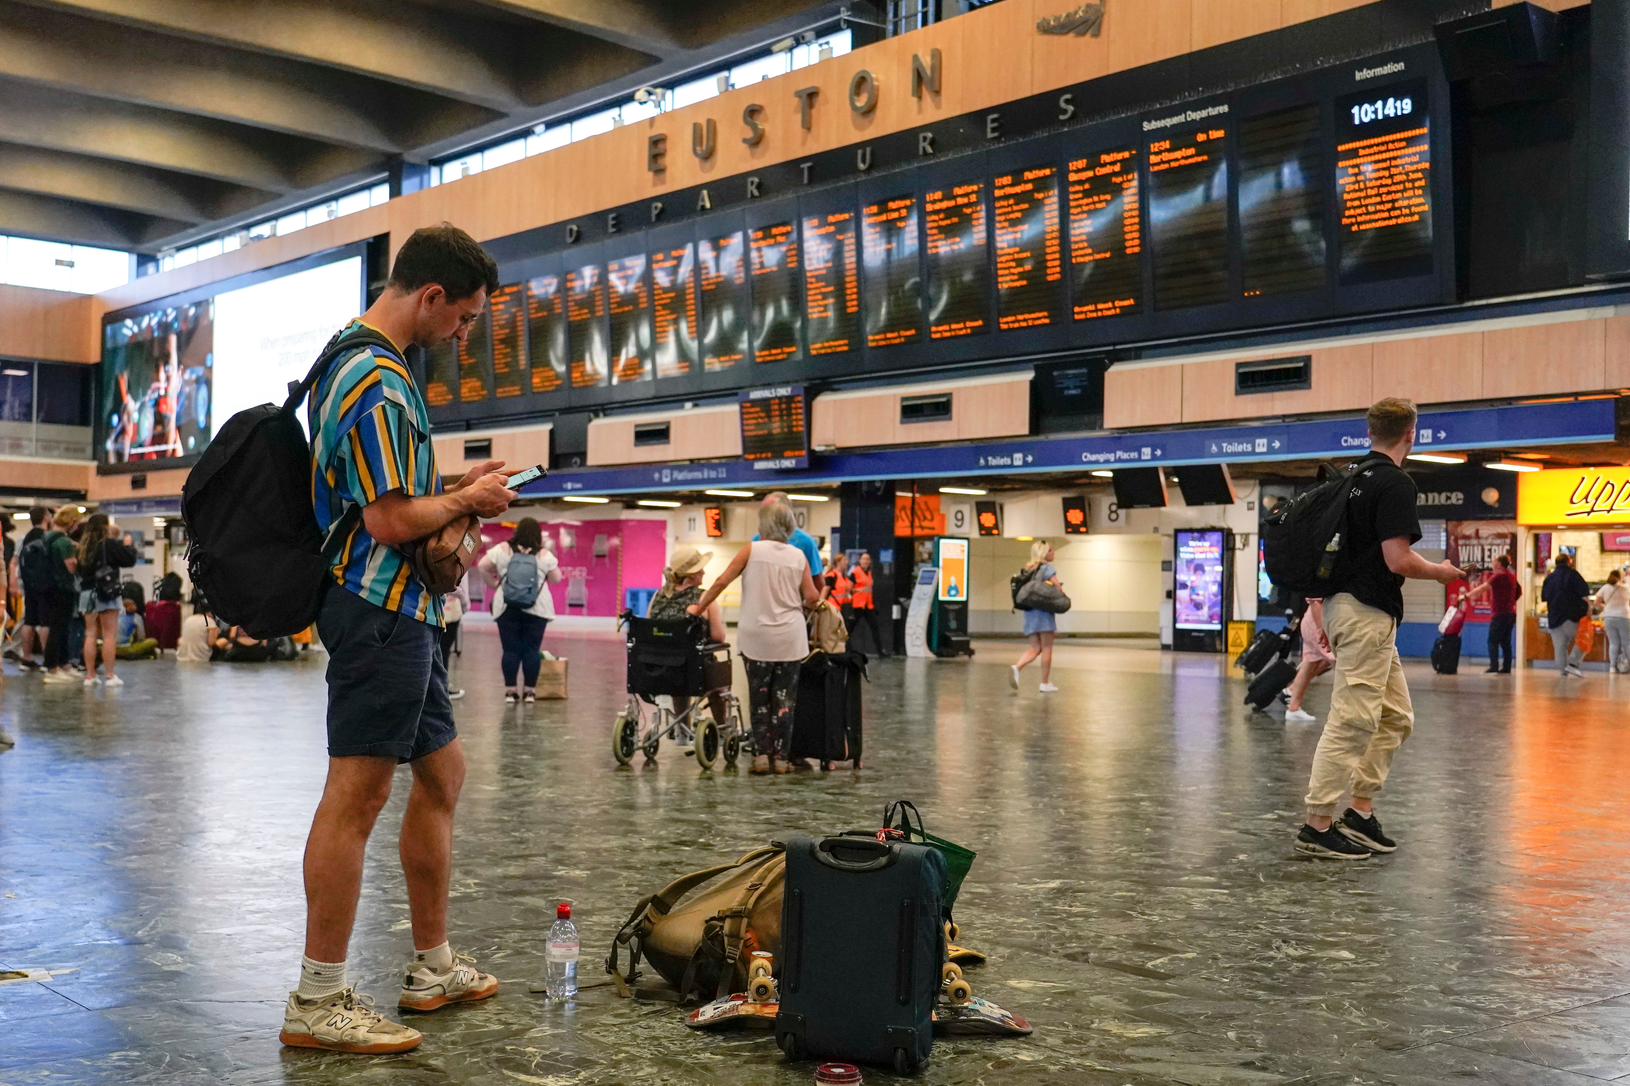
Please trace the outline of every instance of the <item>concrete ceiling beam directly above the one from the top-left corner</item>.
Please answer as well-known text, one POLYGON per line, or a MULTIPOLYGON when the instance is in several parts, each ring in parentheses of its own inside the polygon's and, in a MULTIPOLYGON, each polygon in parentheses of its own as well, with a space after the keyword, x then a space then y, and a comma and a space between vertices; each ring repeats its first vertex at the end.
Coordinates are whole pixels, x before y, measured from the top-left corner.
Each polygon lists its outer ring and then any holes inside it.
POLYGON ((512 109, 513 26, 370 0, 21 0, 512 109))

